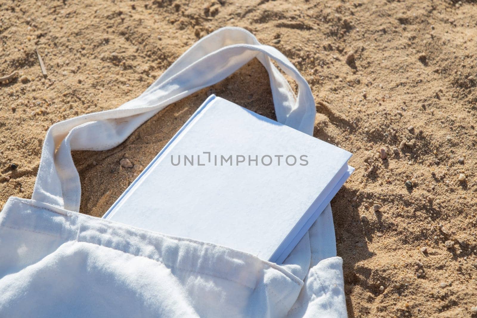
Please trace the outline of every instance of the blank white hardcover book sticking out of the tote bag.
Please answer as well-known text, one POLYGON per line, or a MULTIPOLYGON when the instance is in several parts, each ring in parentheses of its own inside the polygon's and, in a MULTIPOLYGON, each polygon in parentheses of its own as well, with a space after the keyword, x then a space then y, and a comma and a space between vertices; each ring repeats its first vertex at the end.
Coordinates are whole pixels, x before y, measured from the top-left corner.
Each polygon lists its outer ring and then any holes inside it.
POLYGON ((211 95, 103 216, 281 264, 351 154, 211 95))

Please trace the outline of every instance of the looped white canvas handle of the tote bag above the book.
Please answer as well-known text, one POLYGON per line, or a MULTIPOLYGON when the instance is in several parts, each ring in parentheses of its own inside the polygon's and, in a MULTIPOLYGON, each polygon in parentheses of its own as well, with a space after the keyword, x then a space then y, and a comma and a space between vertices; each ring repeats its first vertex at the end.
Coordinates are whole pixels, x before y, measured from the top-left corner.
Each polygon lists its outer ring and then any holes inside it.
POLYGON ((167 105, 220 82, 255 57, 269 73, 277 120, 312 134, 315 103, 300 72, 280 51, 260 44, 249 31, 222 28, 197 41, 134 100, 53 124, 43 143, 32 199, 79 212, 81 184, 72 150, 99 151, 121 144, 167 105), (298 83, 298 96, 270 58, 298 83))

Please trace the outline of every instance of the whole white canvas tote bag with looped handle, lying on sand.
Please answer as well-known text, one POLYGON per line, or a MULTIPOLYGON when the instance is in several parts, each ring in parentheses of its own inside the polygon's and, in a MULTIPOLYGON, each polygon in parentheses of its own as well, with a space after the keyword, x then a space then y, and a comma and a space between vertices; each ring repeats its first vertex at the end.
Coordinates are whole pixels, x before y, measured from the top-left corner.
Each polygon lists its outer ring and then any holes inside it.
POLYGON ((117 146, 170 103, 253 58, 270 74, 278 121, 311 134, 308 83, 279 51, 238 28, 198 41, 119 108, 52 125, 31 200, 10 197, 0 213, 0 317, 346 316, 329 205, 281 266, 78 213, 72 150, 117 146), (270 59, 298 83, 298 96, 270 59))

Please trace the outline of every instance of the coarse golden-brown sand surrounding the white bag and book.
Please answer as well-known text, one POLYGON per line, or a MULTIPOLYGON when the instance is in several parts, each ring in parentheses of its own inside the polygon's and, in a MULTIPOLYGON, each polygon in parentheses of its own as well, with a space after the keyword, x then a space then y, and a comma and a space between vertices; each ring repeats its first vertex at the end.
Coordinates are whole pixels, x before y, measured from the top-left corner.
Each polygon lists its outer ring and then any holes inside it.
MULTIPOLYGON (((353 153, 356 172, 332 201, 350 317, 477 315, 476 4, 76 2, 0 1, 0 77, 17 72, 0 84, 2 205, 31 197, 52 123, 115 108, 198 38, 244 27, 310 83, 314 135, 353 153)), ((120 146, 74 153, 81 212, 102 216, 212 92, 274 117, 267 73, 251 61, 120 146)))

